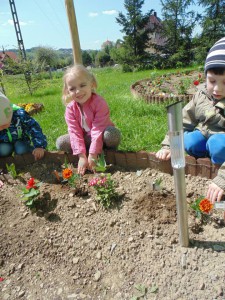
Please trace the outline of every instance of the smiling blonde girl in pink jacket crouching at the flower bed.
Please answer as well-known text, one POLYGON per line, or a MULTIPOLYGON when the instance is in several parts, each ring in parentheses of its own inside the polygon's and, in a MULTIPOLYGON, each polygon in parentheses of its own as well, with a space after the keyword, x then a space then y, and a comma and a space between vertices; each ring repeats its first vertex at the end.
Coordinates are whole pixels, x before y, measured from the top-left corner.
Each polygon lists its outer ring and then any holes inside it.
POLYGON ((106 148, 117 148, 121 135, 110 120, 106 101, 93 91, 97 88, 95 77, 84 66, 69 68, 63 79, 69 134, 60 136, 56 147, 78 155, 78 174, 84 175, 87 168, 94 171, 103 144, 106 148))

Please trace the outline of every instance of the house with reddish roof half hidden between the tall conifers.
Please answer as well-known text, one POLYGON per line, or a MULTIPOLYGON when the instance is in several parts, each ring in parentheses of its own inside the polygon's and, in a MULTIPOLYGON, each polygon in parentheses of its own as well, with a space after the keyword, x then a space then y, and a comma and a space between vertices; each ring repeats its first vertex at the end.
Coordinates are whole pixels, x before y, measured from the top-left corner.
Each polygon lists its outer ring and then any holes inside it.
POLYGON ((149 33, 149 48, 146 50, 149 53, 156 53, 154 46, 164 46, 166 43, 166 39, 161 35, 162 21, 156 12, 149 17, 147 28, 151 30, 151 33, 149 33))

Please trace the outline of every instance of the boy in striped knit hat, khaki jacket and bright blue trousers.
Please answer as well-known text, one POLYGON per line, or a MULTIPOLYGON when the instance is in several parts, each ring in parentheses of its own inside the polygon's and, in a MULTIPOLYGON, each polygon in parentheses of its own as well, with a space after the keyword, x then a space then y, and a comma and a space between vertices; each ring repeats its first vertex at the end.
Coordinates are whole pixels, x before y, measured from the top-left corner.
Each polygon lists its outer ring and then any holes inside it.
MULTIPOLYGON (((184 147, 189 155, 210 157, 212 163, 221 165, 207 191, 207 198, 214 203, 222 199, 225 190, 225 37, 210 49, 205 74, 206 87, 183 108, 184 147)), ((156 157, 170 159, 168 135, 156 157)))

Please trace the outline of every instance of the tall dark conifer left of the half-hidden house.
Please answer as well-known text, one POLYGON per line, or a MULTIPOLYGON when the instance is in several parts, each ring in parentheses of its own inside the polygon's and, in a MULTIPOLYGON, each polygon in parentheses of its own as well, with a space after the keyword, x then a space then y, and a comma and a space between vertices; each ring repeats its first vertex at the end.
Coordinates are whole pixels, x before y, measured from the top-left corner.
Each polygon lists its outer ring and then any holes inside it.
POLYGON ((121 32, 125 34, 122 47, 128 54, 126 57, 129 57, 129 61, 124 63, 131 65, 141 63, 147 57, 145 51, 149 42, 147 24, 151 12, 142 14, 141 8, 144 2, 144 0, 125 0, 124 7, 127 14, 120 12, 116 18, 117 23, 123 27, 121 32))

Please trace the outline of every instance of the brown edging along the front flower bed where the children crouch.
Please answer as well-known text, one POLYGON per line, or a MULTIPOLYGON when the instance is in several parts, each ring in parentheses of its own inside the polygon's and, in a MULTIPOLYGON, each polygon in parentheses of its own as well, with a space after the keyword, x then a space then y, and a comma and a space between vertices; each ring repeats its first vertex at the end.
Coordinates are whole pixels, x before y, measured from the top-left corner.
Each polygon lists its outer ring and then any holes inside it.
MULTIPOLYGON (((116 166, 123 167, 129 170, 138 169, 155 169, 163 173, 173 174, 173 168, 171 162, 160 161, 155 157, 154 152, 123 152, 123 151, 113 151, 106 150, 105 158, 107 164, 112 164, 116 166)), ((62 151, 46 151, 44 158, 40 161, 42 163, 59 163, 63 164, 65 160, 69 163, 77 165, 78 158, 72 154, 68 154, 62 151)), ((0 168, 5 169, 6 163, 10 165, 14 163, 16 168, 23 167, 24 165, 34 163, 34 156, 31 153, 24 155, 15 155, 10 157, 0 158, 0 168)), ((211 163, 209 158, 198 158, 195 159, 192 156, 186 156, 186 166, 185 174, 190 174, 191 176, 206 177, 208 179, 213 179, 219 169, 220 165, 214 165, 211 163)))

